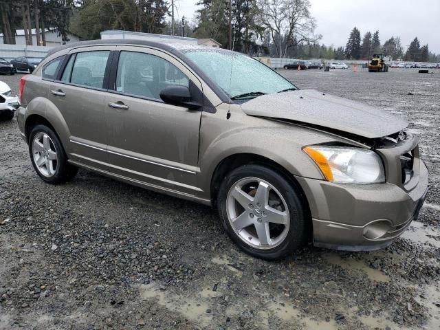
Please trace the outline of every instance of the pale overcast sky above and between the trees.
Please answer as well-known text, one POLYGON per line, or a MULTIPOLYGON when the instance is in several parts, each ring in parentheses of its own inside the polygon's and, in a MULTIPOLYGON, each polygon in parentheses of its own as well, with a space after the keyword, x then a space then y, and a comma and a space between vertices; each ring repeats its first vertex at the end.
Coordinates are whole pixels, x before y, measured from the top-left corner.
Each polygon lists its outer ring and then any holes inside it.
MULTIPOLYGON (((192 19, 197 0, 175 0, 176 17, 192 19)), ((316 18, 321 43, 345 46, 350 31, 356 26, 362 36, 379 30, 383 44, 391 36, 400 36, 406 51, 417 36, 420 44, 429 44, 431 52, 440 53, 440 0, 310 0, 311 14, 316 18), (373 9, 374 8, 374 9, 373 9)))

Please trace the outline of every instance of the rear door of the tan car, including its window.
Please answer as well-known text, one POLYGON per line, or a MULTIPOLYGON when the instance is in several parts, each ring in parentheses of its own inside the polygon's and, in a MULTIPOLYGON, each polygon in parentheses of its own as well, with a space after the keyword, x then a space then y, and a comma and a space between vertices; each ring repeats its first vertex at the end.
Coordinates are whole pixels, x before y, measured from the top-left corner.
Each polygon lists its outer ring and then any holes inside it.
POLYGON ((67 148, 74 162, 106 168, 107 131, 104 93, 113 46, 72 50, 58 80, 50 84, 49 98, 61 111, 70 132, 67 148))

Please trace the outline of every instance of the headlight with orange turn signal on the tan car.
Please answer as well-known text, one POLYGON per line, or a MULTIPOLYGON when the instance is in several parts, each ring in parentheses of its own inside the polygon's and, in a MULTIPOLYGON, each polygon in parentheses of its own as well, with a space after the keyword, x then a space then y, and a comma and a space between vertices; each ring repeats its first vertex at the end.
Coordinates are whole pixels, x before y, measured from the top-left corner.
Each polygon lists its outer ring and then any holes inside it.
POLYGON ((364 148, 346 146, 306 146, 327 181, 352 184, 377 184, 385 181, 379 155, 364 148))

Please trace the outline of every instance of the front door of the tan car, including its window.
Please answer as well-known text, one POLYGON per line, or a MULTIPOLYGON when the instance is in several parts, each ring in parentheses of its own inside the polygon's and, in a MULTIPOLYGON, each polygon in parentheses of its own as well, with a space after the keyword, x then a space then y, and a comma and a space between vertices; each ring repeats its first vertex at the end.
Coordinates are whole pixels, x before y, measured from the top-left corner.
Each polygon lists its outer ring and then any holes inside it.
POLYGON ((164 52, 118 49, 113 91, 104 100, 109 163, 124 177, 194 195, 201 112, 166 104, 159 94, 190 81, 201 91, 199 80, 164 52))

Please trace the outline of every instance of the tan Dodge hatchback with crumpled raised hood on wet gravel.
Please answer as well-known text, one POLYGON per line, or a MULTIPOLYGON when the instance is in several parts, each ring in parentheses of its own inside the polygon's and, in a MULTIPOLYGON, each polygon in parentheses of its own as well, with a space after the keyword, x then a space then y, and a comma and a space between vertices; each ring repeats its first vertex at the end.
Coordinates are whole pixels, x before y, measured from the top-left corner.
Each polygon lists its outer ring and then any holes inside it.
POLYGON ((78 167, 215 206, 232 241, 375 250, 417 218, 428 171, 407 122, 300 90, 243 54, 136 40, 55 50, 23 76, 17 120, 43 181, 78 167))

